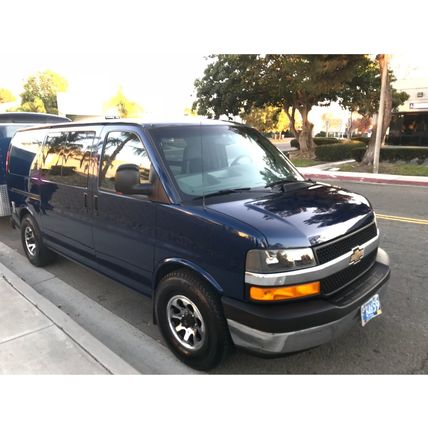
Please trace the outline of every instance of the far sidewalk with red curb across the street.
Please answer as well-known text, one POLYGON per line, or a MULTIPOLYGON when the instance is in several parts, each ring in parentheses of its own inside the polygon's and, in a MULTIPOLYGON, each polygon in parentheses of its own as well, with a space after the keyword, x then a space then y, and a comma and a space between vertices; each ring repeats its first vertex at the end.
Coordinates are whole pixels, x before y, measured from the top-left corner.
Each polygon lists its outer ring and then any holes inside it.
POLYGON ((368 172, 328 171, 325 168, 345 162, 321 164, 311 167, 300 167, 298 170, 306 177, 314 180, 357 181, 360 183, 398 184, 408 186, 428 186, 428 177, 392 174, 371 174, 368 172))

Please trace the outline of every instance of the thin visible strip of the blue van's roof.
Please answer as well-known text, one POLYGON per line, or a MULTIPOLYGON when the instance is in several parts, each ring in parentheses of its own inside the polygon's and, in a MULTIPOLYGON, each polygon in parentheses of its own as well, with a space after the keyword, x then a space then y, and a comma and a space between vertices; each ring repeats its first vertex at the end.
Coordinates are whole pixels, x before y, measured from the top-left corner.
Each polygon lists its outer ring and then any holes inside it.
MULTIPOLYGON (((77 121, 77 122, 66 122, 66 123, 56 123, 56 124, 46 124, 41 126, 36 126, 28 128, 28 130, 34 129, 57 129, 57 128, 71 128, 71 127, 82 127, 82 126, 91 126, 91 125, 140 125, 145 128, 151 127, 166 127, 166 126, 185 126, 185 125, 225 125, 225 124, 235 124, 243 125, 242 123, 226 121, 226 120, 214 120, 198 117, 182 117, 175 120, 150 120, 150 119, 100 119, 100 120, 91 120, 91 121, 77 121)), ((18 132, 25 132, 27 129, 19 130, 18 132)))

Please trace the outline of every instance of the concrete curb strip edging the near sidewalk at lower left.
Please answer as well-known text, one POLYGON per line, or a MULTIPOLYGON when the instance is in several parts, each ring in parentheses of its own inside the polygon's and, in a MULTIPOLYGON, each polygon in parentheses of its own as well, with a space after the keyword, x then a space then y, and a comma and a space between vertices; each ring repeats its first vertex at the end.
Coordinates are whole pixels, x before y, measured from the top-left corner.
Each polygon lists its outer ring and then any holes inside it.
POLYGON ((0 263, 0 275, 107 371, 112 374, 139 374, 137 370, 89 334, 53 303, 37 293, 2 263, 0 263))

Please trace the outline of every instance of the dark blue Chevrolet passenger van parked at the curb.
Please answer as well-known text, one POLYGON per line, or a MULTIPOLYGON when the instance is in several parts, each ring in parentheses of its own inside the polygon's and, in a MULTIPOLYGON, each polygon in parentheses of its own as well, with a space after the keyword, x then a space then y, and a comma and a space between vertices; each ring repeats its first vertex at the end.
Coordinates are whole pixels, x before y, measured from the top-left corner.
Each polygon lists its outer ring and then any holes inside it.
POLYGON ((18 131, 9 156, 30 262, 59 253, 151 296, 191 367, 233 345, 312 348, 381 313, 390 268, 370 203, 305 180, 247 126, 65 123, 18 131))

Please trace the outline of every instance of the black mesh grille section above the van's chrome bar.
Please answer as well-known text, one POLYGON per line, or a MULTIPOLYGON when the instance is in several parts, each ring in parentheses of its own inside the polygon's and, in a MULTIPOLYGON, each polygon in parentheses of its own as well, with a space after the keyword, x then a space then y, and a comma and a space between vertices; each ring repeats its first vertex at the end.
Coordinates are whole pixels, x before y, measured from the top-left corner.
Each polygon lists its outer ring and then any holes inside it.
POLYGON ((334 242, 323 244, 318 248, 315 247, 315 253, 318 257, 319 264, 327 263, 330 260, 336 259, 345 253, 348 253, 353 248, 364 244, 370 239, 373 239, 377 235, 376 224, 372 223, 370 226, 359 230, 352 235, 345 236, 334 242))

